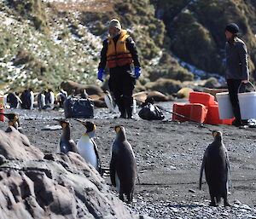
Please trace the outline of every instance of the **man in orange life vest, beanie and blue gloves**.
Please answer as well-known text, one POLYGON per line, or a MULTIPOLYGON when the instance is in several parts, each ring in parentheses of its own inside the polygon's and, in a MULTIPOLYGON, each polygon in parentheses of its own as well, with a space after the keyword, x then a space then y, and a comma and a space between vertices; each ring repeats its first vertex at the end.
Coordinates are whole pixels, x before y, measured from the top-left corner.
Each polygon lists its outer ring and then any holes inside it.
POLYGON ((102 80, 105 66, 109 67, 109 89, 121 112, 120 118, 131 118, 132 90, 141 75, 137 49, 133 39, 122 30, 119 20, 113 19, 108 26, 109 35, 103 41, 98 79, 102 80), (135 66, 134 73, 131 65, 135 66))

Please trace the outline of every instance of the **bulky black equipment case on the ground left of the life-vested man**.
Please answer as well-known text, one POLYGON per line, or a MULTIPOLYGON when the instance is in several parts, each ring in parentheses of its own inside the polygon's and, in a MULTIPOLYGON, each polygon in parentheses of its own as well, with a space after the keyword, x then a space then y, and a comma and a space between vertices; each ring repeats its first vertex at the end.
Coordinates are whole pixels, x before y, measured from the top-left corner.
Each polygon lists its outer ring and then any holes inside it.
POLYGON ((93 118, 93 101, 79 97, 68 97, 64 101, 65 118, 93 118))

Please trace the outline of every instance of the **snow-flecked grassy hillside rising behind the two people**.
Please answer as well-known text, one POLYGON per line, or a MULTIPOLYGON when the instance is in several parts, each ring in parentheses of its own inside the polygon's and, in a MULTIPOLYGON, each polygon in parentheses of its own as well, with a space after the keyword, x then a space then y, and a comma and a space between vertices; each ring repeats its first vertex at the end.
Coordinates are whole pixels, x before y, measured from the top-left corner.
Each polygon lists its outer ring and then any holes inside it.
POLYGON ((241 26, 253 72, 254 2, 0 0, 0 89, 57 89, 66 79, 99 83, 97 65, 112 18, 118 18, 137 43, 142 86, 158 78, 193 80, 189 65, 206 72, 205 77, 223 75, 224 26, 231 21, 241 26))

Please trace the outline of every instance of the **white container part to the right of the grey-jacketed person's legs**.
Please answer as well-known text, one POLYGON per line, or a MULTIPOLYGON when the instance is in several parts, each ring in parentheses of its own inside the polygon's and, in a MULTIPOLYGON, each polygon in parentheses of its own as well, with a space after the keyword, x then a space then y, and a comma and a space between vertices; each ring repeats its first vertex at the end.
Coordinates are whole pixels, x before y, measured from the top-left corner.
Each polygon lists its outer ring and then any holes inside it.
POLYGON ((256 118, 256 92, 238 94, 241 119, 256 118))

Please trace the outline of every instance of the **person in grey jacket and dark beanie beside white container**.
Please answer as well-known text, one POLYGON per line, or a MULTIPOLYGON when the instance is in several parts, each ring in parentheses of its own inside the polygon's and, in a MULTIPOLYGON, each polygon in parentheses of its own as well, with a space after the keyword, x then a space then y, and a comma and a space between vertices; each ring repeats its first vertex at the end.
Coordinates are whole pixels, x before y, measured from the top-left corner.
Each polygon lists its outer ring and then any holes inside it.
POLYGON ((239 27, 230 23, 225 28, 227 42, 226 52, 226 82, 229 89, 230 101, 232 104, 236 126, 241 126, 241 113, 238 101, 238 89, 241 84, 241 91, 244 91, 245 84, 249 82, 248 55, 246 44, 237 37, 239 27))

